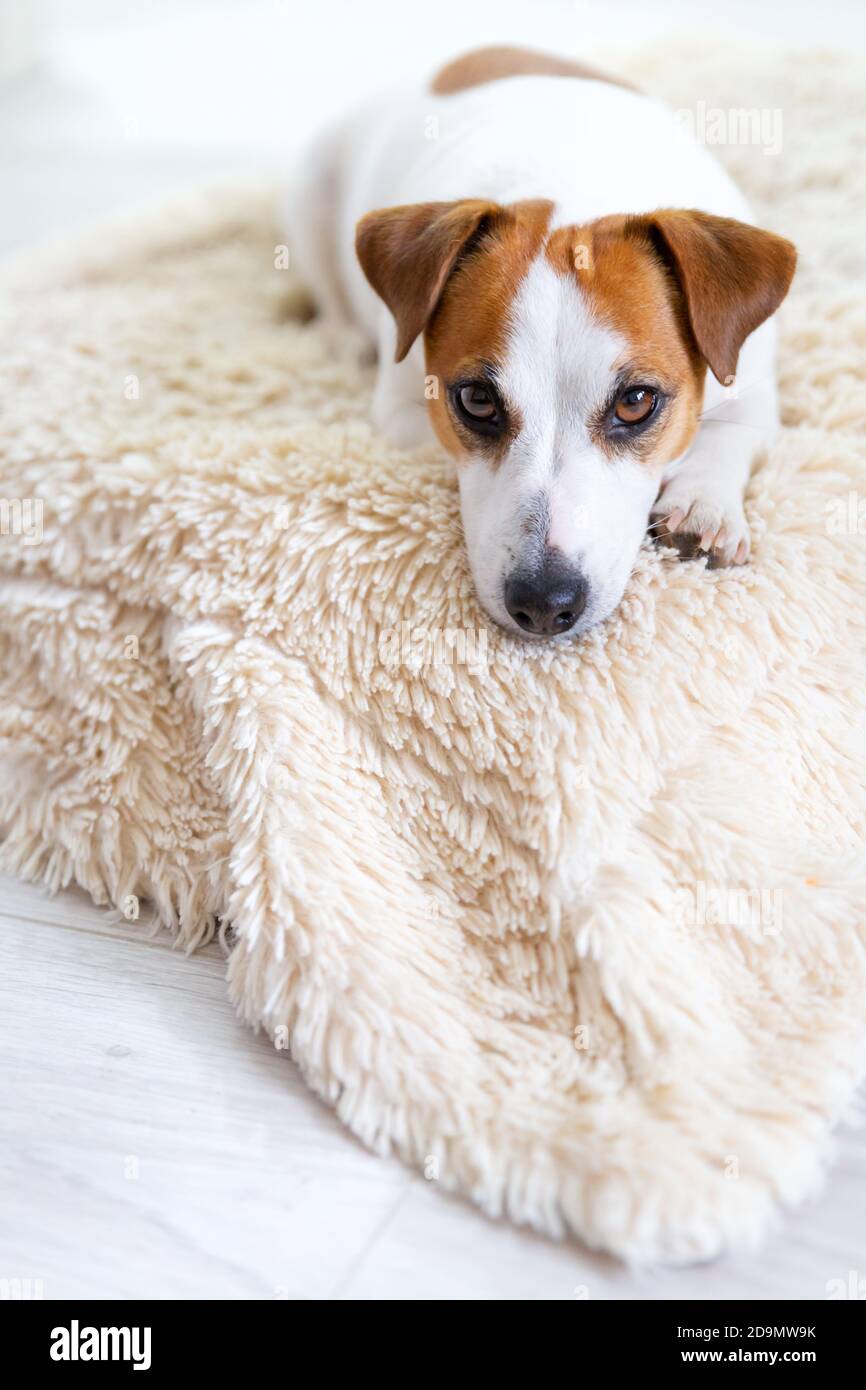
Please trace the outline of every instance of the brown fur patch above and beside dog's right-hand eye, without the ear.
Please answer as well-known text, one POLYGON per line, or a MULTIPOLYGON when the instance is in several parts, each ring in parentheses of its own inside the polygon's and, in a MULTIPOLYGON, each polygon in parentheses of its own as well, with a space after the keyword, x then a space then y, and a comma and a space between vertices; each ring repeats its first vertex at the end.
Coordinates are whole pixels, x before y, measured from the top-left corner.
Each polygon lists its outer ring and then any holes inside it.
POLYGON ((574 277, 594 317, 626 339, 617 366, 628 366, 635 382, 645 375, 671 392, 662 428, 645 434, 637 450, 655 468, 678 457, 698 428, 706 363, 674 275, 648 242, 627 235, 628 222, 613 215, 557 228, 545 254, 555 270, 574 277))

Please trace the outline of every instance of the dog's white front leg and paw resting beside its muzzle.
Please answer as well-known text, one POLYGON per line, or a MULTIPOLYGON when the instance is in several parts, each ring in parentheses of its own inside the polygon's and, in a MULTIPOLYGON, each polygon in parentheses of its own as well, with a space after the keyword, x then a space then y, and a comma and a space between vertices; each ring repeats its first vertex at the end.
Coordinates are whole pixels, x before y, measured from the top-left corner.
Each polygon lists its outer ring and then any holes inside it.
POLYGON ((652 534, 683 559, 706 553, 712 567, 721 567, 749 557, 742 499, 755 457, 778 430, 771 346, 769 334, 755 345, 749 374, 735 393, 710 393, 694 443, 663 477, 652 534))

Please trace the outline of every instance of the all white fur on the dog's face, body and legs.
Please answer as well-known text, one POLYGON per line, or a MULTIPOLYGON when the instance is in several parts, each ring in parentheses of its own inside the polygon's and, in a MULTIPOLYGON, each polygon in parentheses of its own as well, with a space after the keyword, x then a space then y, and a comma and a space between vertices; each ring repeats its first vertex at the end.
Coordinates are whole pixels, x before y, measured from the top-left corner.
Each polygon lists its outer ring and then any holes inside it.
MULTIPOLYGON (((354 114, 317 142, 289 199, 289 231, 325 314, 352 318, 375 342, 373 418, 405 448, 431 438, 423 342, 393 361, 393 322, 357 263, 354 227, 375 207, 457 197, 549 199, 552 229, 677 206, 751 220, 721 165, 671 111, 610 83, 516 76, 446 97, 391 93, 354 114), (642 157, 645 150, 653 157, 642 157)), ((612 335, 589 320, 573 282, 535 264, 516 297, 505 373, 524 432, 500 470, 481 459, 460 470, 478 592, 512 628, 502 589, 532 495, 549 499, 549 543, 580 559, 591 584, 577 630, 621 598, 657 480, 651 485, 627 460, 603 461, 589 445, 585 413, 603 398, 614 356, 612 335)), ((738 399, 727 399, 708 373, 709 423, 664 474, 655 509, 657 516, 680 509, 702 530, 724 531, 724 559, 748 549, 742 492, 776 427, 773 356, 766 324, 744 349, 738 399)))

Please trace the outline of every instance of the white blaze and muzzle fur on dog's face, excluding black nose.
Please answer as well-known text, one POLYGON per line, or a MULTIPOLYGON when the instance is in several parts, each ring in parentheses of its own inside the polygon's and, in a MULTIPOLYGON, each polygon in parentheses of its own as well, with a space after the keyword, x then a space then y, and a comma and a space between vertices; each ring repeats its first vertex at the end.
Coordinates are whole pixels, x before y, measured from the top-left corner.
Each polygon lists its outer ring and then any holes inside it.
POLYGON ((523 428, 502 463, 461 466, 463 528, 481 602, 503 626, 507 567, 531 567, 539 545, 563 552, 589 580, 575 631, 619 603, 646 530, 656 484, 628 459, 592 443, 588 416, 603 403, 624 341, 589 313, 575 284, 538 259, 512 313, 499 384, 520 402, 523 428), (527 520, 544 516, 544 531, 527 520))

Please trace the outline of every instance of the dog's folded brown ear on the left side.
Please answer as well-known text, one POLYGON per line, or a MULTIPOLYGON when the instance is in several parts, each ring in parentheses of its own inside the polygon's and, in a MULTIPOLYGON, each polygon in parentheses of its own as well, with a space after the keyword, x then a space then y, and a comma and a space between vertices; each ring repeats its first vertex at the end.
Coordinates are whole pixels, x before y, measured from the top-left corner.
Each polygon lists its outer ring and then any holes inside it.
POLYGON ((398 325, 396 361, 427 327, 463 247, 500 211, 496 203, 460 199, 382 207, 361 217, 354 249, 398 325))

